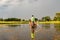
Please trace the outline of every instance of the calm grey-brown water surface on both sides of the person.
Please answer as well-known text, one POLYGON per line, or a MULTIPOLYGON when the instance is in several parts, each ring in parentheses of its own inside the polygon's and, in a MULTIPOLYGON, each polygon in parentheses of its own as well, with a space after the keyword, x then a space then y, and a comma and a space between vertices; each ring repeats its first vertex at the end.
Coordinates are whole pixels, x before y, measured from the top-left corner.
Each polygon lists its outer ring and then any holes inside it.
MULTIPOLYGON (((0 25, 0 40, 32 40, 28 24, 0 25)), ((39 24, 34 40, 60 40, 60 24, 39 24)))

